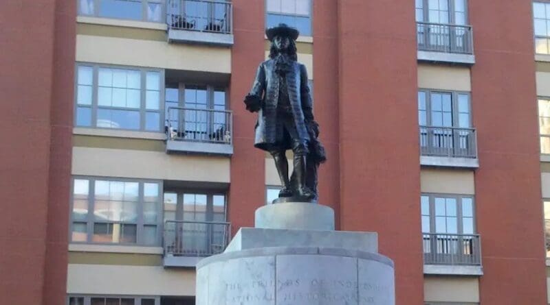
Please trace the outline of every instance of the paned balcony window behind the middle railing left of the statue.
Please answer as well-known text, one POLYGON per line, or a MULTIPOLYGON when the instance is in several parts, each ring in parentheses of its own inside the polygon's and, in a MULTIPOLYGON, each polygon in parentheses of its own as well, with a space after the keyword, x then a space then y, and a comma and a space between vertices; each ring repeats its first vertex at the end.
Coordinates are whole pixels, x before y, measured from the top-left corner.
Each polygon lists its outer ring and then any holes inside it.
POLYGON ((230 112, 225 88, 169 84, 166 86, 166 126, 170 138, 230 143, 230 112))

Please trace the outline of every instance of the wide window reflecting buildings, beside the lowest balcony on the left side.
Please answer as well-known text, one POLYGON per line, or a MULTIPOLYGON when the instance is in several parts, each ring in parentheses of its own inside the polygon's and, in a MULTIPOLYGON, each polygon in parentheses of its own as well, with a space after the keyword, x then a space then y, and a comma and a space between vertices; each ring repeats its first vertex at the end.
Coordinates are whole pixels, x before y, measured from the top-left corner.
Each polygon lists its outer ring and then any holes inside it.
POLYGON ((72 242, 159 245, 160 184, 74 178, 72 242))

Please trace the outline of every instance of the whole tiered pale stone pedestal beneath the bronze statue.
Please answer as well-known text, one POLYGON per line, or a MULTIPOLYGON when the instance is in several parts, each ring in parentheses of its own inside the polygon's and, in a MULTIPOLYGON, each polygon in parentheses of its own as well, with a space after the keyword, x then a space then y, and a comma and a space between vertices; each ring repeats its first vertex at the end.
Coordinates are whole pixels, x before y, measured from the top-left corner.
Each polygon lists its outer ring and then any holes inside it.
POLYGON ((259 208, 259 228, 199 262, 197 305, 395 305, 393 261, 377 254, 376 233, 327 230, 329 207, 286 205, 259 208))

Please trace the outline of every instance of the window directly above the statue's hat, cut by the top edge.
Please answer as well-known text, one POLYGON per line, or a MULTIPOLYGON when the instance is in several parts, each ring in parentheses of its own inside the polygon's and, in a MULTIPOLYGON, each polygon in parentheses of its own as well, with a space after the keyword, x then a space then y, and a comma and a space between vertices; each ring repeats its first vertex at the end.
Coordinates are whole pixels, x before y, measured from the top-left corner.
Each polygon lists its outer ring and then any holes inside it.
POLYGON ((300 35, 311 36, 312 0, 267 0, 267 27, 286 23, 296 27, 300 35))

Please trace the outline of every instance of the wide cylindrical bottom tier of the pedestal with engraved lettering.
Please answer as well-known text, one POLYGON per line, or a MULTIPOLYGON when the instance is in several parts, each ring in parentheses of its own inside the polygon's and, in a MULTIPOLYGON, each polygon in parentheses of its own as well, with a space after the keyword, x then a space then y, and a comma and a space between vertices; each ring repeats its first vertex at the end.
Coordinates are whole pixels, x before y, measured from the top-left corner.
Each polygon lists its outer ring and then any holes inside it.
POLYGON ((393 261, 340 248, 270 247, 197 265, 197 305, 395 305, 393 261))

